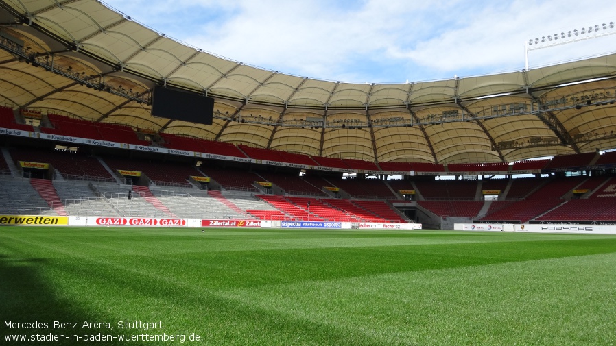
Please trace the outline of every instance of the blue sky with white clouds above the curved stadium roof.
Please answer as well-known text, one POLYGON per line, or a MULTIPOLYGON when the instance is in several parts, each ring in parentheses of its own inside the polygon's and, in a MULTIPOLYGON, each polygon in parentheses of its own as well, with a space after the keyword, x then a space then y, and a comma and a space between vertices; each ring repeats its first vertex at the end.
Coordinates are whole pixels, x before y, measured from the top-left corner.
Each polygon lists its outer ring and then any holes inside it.
MULTIPOLYGON (((529 38, 616 22, 616 1, 604 0, 104 2, 157 32, 230 60, 360 83, 519 71, 529 38)), ((530 51, 529 62, 532 69, 614 51, 616 34, 530 51)))

